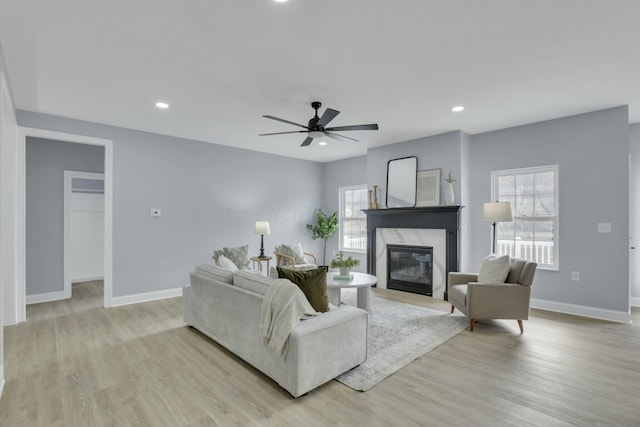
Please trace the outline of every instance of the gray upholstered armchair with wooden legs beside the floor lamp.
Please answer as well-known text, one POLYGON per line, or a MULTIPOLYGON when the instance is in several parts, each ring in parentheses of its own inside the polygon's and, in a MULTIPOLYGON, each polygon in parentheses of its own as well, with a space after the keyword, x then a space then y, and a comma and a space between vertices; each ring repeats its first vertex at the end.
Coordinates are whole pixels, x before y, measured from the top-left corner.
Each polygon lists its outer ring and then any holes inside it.
POLYGON ((451 313, 456 308, 464 313, 471 332, 478 319, 515 319, 523 333, 536 268, 535 262, 505 255, 485 258, 478 274, 450 272, 451 313), (499 260, 501 265, 496 267, 499 260))

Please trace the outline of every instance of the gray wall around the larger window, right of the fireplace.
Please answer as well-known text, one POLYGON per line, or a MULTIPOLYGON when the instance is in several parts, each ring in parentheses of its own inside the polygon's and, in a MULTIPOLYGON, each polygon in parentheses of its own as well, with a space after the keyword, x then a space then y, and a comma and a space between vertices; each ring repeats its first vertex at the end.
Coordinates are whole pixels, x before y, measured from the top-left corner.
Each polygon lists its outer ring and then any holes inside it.
POLYGON ((560 269, 538 270, 532 298, 627 312, 628 147, 626 106, 471 136, 471 268, 488 253, 482 204, 491 196, 491 171, 557 164, 560 269), (599 222, 611 223, 612 233, 597 233, 599 222), (571 281, 572 271, 580 282, 571 281))

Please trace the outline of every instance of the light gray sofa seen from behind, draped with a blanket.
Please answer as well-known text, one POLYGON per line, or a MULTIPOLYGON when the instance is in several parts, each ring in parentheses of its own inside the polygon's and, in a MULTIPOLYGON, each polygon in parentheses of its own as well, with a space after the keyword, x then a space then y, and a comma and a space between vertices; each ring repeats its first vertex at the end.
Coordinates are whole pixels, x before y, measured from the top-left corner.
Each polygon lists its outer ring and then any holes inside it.
POLYGON ((184 321, 299 397, 367 358, 367 312, 342 305, 301 320, 286 357, 263 343, 262 300, 274 279, 201 265, 184 288, 184 321))

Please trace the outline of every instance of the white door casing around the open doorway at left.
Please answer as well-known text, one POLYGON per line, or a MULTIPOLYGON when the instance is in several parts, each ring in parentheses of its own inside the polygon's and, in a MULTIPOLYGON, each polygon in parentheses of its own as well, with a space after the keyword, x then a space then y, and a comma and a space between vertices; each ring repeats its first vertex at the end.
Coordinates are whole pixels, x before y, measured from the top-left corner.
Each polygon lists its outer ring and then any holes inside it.
POLYGON ((16 323, 26 320, 26 143, 27 137, 104 147, 104 307, 113 301, 113 140, 20 126, 17 144, 18 300, 16 323))

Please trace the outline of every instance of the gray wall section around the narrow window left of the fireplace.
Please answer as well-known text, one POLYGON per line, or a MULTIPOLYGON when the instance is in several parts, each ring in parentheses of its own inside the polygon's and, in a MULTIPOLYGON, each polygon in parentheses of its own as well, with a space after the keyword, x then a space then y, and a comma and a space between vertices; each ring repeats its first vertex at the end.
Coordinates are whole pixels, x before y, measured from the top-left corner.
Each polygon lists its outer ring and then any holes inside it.
MULTIPOLYGON (((323 165, 323 210, 327 213, 337 212, 340 208, 338 189, 347 185, 362 185, 367 183, 367 158, 365 156, 338 160, 323 165)), ((369 187, 371 188, 371 187, 369 187)), ((339 248, 339 233, 334 234, 327 243, 327 264, 330 264, 333 254, 339 248)), ((347 254, 360 260, 360 265, 353 271, 367 270, 366 254, 349 252, 347 254)))

